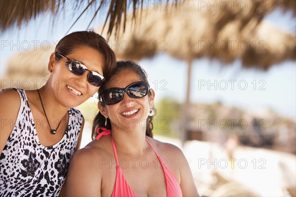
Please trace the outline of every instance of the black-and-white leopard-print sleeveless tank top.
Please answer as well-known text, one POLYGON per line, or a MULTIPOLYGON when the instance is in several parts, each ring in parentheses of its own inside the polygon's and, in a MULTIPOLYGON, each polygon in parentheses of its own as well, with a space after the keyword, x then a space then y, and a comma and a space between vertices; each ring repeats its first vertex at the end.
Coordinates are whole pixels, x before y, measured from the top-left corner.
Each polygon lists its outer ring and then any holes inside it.
MULTIPOLYGON (((55 197, 67 175, 82 124, 81 113, 69 109, 63 138, 53 146, 40 144, 26 93, 21 98, 17 121, 0 155, 0 197, 55 197)), ((12 123, 10 123, 12 124, 12 123)))

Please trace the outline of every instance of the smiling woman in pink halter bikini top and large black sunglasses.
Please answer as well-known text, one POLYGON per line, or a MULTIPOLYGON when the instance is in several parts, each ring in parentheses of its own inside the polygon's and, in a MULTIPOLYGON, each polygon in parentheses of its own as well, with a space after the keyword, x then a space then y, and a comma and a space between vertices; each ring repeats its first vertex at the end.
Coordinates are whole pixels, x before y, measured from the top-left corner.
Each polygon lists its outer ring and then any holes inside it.
POLYGON ((154 91, 143 68, 117 62, 98 94, 94 140, 70 162, 67 196, 198 197, 182 151, 152 138, 154 91))

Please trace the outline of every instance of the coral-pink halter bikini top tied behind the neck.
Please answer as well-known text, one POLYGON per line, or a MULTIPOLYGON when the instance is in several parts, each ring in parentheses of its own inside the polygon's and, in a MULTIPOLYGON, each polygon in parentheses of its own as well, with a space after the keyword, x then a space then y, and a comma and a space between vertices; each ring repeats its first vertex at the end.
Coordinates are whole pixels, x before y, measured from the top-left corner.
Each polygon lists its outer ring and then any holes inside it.
MULTIPOLYGON (((105 128, 100 128, 103 130, 102 132, 98 132, 99 135, 96 137, 96 140, 99 140, 101 136, 103 135, 109 135, 111 134, 111 130, 107 130, 105 128)), ((97 130, 99 131, 99 129, 97 130)), ((116 147, 113 141, 113 138, 111 136, 111 141, 112 141, 112 146, 113 146, 113 151, 115 155, 115 160, 116 160, 116 179, 115 179, 115 186, 112 192, 111 197, 137 197, 137 195, 134 193, 134 191, 130 188, 128 183, 126 182, 121 167, 118 162, 118 156, 117 156, 117 151, 116 147)), ((167 192, 167 197, 182 197, 182 190, 177 182, 174 174, 170 171, 170 169, 165 165, 161 157, 157 154, 155 151, 154 147, 150 144, 148 139, 146 139, 148 142, 149 146, 153 149, 154 153, 156 154, 165 177, 165 183, 166 183, 166 192, 167 192)))

